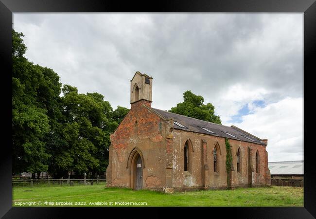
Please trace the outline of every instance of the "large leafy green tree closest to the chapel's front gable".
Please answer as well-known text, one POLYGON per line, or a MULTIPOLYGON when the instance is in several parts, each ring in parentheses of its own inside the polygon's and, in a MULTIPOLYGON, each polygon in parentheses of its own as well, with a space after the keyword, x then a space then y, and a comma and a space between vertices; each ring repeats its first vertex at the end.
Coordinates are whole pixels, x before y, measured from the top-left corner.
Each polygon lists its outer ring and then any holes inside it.
POLYGON ((92 176, 102 174, 108 164, 109 133, 118 126, 117 120, 123 114, 113 111, 100 93, 78 93, 77 88, 70 85, 64 85, 62 91, 62 140, 52 150, 51 171, 58 175, 66 171, 91 172, 92 176))

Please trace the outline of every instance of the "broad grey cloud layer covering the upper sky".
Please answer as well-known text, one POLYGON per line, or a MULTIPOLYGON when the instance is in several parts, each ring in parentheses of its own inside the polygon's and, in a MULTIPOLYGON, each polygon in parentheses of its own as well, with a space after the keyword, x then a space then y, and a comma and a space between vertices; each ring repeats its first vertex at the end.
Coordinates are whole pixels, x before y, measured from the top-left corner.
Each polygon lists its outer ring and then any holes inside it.
MULTIPOLYGON (((301 96, 302 48, 296 38, 291 38, 292 29, 287 36, 275 37, 275 48, 238 49, 253 40, 260 42, 272 22, 283 18, 286 22, 285 18, 291 16, 302 19, 296 14, 250 13, 18 13, 14 19, 18 31, 23 31, 27 23, 36 24, 42 31, 36 43, 48 52, 29 50, 29 57, 39 64, 50 64, 64 82, 77 86, 79 91, 98 88, 111 103, 122 105, 116 100, 126 100, 123 95, 129 98, 129 79, 140 71, 153 76, 154 87, 161 92, 154 103, 163 102, 161 106, 170 108, 175 103, 164 99, 170 95, 168 89, 159 87, 173 87, 177 99, 184 91, 192 90, 217 101, 227 87, 236 83, 263 87, 274 93, 276 101, 284 96, 301 96), (282 37, 284 40, 279 40, 282 37), (54 61, 53 56, 66 57, 65 52, 73 55, 73 66, 62 63, 62 59, 54 61), (38 53, 52 56, 45 61, 38 53), (110 83, 113 80, 116 82, 110 83), (118 85, 126 91, 118 91, 118 85)), ((293 28, 301 31, 298 24, 293 28)), ((271 41, 273 34, 268 35, 271 41)))

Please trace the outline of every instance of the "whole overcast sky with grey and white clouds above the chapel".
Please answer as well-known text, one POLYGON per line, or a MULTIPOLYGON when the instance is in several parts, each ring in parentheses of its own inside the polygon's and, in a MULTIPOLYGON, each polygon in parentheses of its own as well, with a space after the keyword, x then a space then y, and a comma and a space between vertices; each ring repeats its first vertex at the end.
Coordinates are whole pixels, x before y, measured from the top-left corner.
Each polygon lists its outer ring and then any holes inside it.
POLYGON ((303 160, 303 13, 14 13, 26 57, 80 93, 130 108, 136 71, 152 107, 202 95, 223 125, 268 139, 269 161, 303 160))

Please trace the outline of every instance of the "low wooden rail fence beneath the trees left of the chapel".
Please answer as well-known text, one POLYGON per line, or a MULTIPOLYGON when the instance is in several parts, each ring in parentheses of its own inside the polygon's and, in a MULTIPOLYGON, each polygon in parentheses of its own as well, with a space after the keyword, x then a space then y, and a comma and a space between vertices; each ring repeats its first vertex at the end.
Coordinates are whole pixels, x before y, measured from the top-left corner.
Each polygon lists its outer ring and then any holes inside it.
POLYGON ((45 179, 45 180, 12 180, 12 186, 75 186, 100 185, 106 179, 45 179))

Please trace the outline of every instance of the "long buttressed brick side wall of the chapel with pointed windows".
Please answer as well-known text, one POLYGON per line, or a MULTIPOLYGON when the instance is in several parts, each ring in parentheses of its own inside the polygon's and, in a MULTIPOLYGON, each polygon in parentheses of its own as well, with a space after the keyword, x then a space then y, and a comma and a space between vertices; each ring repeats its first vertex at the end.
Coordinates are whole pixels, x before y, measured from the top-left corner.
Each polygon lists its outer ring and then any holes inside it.
MULTIPOLYGON (((202 186, 206 185, 209 187, 226 187, 227 186, 227 174, 226 174, 226 145, 225 138, 216 137, 211 135, 202 135, 193 132, 186 132, 178 129, 173 130, 174 135, 174 171, 173 171, 173 186, 202 186), (193 170, 190 173, 191 176, 184 174, 183 171, 183 146, 187 139, 190 139, 193 143, 194 152, 192 153, 192 166, 193 170), (207 144, 203 141, 205 140, 207 144), (218 143, 219 151, 217 151, 217 168, 218 172, 213 171, 213 148, 218 143), (203 162, 202 162, 203 161, 203 162), (209 171, 206 173, 208 177, 205 183, 203 182, 203 163, 208 164, 209 171), (192 177, 192 181, 191 178, 192 177), (202 180, 201 180, 202 179, 202 180), (190 181, 190 182, 189 182, 190 181), (188 183, 189 182, 189 183, 188 183)), ((260 154, 260 171, 259 173, 254 172, 253 185, 266 184, 266 170, 267 157, 265 146, 252 144, 249 142, 242 142, 233 139, 229 139, 230 146, 232 147, 232 162, 234 170, 232 172, 232 186, 248 186, 248 146, 252 148, 252 166, 255 170, 255 156, 256 151, 260 154), (237 173, 237 150, 241 150, 241 173, 237 173)), ((168 144, 167 144, 168 147, 168 144)))

